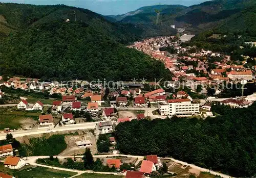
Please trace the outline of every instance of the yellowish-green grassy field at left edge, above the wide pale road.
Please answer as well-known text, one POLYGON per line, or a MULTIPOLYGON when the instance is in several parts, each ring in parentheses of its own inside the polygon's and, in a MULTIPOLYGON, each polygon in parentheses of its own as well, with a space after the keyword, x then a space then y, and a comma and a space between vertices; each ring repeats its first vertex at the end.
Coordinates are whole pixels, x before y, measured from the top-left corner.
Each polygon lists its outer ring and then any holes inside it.
POLYGON ((21 128, 20 121, 38 119, 40 112, 18 111, 14 108, 0 108, 0 130, 21 128))

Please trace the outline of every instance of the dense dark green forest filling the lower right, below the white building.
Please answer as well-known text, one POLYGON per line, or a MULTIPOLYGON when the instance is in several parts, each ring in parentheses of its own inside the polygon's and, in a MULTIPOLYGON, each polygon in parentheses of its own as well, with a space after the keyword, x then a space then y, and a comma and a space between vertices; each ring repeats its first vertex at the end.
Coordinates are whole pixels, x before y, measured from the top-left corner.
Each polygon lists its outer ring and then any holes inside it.
POLYGON ((172 156, 236 177, 256 173, 256 104, 246 109, 213 106, 215 118, 133 120, 116 126, 124 154, 172 156))

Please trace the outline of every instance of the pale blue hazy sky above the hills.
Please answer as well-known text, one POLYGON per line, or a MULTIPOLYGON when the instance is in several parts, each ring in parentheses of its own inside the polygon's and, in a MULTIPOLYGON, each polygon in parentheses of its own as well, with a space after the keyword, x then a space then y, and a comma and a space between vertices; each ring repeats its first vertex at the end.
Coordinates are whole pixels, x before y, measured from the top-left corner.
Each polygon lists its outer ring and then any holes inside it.
MULTIPOLYGON (((3 3, 23 3, 35 5, 65 4, 68 6, 81 7, 103 15, 124 14, 134 11, 142 6, 163 4, 180 4, 191 6, 200 4, 206 0, 0 0, 3 3)), ((209 0, 208 0, 209 1, 209 0)))

